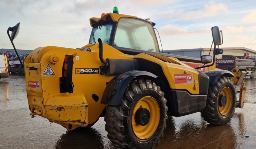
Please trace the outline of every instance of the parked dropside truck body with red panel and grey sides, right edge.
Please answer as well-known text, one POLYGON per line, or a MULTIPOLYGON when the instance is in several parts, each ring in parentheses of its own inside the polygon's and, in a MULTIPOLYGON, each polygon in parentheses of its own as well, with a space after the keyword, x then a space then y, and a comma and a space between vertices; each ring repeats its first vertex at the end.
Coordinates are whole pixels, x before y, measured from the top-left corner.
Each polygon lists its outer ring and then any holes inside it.
POLYGON ((225 59, 216 59, 216 68, 232 70, 233 68, 238 68, 240 71, 246 71, 246 74, 250 78, 254 78, 255 75, 255 63, 256 58, 254 59, 237 59, 237 58, 225 58, 225 59))

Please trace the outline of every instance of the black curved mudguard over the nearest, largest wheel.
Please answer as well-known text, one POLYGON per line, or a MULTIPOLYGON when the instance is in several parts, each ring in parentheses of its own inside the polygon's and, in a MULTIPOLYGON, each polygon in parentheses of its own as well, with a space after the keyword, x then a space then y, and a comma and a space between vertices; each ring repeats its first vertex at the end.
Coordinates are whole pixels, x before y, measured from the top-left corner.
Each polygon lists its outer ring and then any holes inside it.
POLYGON ((133 70, 115 76, 110 82, 107 82, 107 87, 104 90, 101 104, 104 105, 120 105, 124 92, 134 77, 148 76, 149 78, 157 78, 155 74, 147 71, 133 70))

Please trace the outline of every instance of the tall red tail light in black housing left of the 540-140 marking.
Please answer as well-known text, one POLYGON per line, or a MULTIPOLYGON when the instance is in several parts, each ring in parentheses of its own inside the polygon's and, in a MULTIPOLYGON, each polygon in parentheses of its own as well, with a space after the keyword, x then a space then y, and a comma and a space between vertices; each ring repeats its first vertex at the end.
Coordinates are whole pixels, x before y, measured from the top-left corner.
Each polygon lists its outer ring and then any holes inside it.
POLYGON ((62 67, 62 77, 60 77, 60 92, 61 93, 73 93, 73 55, 65 55, 63 67, 62 67))

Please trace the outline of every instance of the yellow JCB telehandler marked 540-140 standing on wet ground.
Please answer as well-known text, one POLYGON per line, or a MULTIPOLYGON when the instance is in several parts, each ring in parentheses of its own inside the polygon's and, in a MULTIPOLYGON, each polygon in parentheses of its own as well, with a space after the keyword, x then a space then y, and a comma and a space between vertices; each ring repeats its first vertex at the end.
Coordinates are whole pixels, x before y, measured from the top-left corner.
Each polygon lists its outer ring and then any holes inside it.
MULTIPOLYGON (((119 14, 116 7, 113 13, 90 18, 90 25, 89 44, 82 48, 40 47, 27 57, 32 117, 73 130, 105 116, 107 137, 117 148, 154 148, 163 137, 167 115, 201 112, 213 125, 230 121, 236 106, 235 75, 197 70, 214 66, 215 55, 223 52, 218 49, 218 27, 211 29, 212 60, 209 55, 194 59, 160 53, 155 23, 119 14), (183 61, 205 65, 195 69, 183 61)), ((18 28, 8 28, 11 42, 18 28)))

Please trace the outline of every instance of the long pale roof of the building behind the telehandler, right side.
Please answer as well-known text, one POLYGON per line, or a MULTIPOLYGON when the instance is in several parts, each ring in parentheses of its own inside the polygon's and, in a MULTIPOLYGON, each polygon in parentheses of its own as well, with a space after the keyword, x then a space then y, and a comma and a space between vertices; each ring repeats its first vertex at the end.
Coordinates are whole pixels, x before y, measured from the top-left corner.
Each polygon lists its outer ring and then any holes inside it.
MULTIPOLYGON (((251 52, 251 53, 254 53, 256 54, 256 51, 255 50, 252 50, 252 49, 248 49, 248 48, 245 48, 245 47, 231 47, 231 48, 221 48, 220 49, 223 49, 223 50, 243 50, 243 51, 247 51, 247 52, 251 52)), ((196 49, 179 49, 179 50, 164 50, 164 53, 167 53, 167 52, 185 52, 185 51, 209 51, 210 48, 196 48, 196 49)), ((244 52, 243 52, 244 53, 244 52)))

